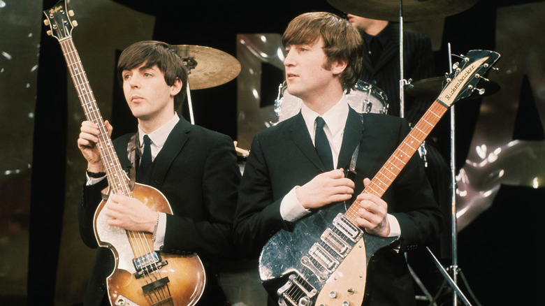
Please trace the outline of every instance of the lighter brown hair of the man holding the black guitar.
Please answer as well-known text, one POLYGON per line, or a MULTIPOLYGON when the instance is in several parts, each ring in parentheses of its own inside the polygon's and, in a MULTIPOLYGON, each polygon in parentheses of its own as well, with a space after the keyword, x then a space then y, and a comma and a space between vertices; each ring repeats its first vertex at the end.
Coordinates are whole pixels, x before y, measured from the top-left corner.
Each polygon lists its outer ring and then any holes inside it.
POLYGON ((326 68, 334 61, 346 61, 347 68, 340 75, 344 89, 354 87, 361 73, 363 43, 358 29, 348 20, 333 13, 312 12, 295 17, 282 36, 282 45, 311 44, 324 40, 328 58, 326 68))

